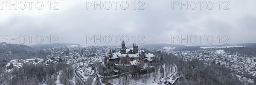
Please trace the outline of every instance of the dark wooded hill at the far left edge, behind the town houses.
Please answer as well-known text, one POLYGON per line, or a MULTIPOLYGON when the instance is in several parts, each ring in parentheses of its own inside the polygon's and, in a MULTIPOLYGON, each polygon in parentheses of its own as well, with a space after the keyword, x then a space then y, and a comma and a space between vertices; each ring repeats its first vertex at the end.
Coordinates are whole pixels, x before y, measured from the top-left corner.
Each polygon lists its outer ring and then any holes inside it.
POLYGON ((35 57, 36 51, 23 44, 0 43, 0 59, 18 59, 35 57))

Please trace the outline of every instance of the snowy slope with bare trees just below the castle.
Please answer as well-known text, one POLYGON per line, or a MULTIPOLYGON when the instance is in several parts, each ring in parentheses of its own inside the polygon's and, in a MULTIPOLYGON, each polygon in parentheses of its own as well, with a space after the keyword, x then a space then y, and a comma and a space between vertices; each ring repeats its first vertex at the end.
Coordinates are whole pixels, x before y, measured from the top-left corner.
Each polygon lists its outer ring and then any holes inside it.
MULTIPOLYGON (((163 67, 165 67, 165 65, 163 65, 163 67)), ((171 66, 170 66, 171 67, 171 66)), ((164 68, 165 69, 165 68, 164 68)), ((167 71, 167 69, 166 69, 167 71)), ((166 71, 164 72, 164 78, 166 77, 170 77, 172 74, 177 74, 176 71, 176 65, 172 66, 172 71, 171 68, 169 68, 169 74, 166 75, 166 71)), ((158 69, 157 73, 155 73, 155 77, 153 72, 150 73, 150 76, 145 77, 146 74, 141 75, 141 77, 139 78, 139 76, 137 77, 137 79, 131 76, 131 74, 128 75, 127 80, 125 77, 119 77, 116 79, 110 79, 108 80, 109 83, 113 84, 113 85, 124 85, 124 81, 129 81, 128 85, 157 85, 158 82, 160 82, 162 80, 162 74, 160 73, 160 69, 158 69)))

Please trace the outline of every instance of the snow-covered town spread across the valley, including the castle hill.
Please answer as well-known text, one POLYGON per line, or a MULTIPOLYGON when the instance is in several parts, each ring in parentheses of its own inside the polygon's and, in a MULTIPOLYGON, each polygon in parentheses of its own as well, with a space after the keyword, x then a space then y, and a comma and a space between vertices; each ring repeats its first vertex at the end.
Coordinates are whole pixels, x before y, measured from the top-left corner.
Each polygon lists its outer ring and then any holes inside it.
MULTIPOLYGON (((151 52, 161 51, 182 57, 185 61, 198 59, 208 62, 205 64, 224 65, 233 71, 237 71, 237 73, 248 73, 250 76, 256 77, 255 57, 228 55, 221 48, 180 52, 173 51, 172 49, 175 47, 140 50, 137 44, 133 44, 132 48, 125 47, 125 44, 122 45, 120 48, 97 46, 53 47, 44 49, 45 52, 50 52, 45 58, 15 59, 11 60, 6 66, 10 66, 12 63, 13 67, 19 68, 23 64, 36 65, 43 63, 49 65, 64 61, 66 64, 73 65, 76 77, 86 84, 95 84, 95 81, 99 81, 103 85, 120 85, 123 83, 174 84, 178 82, 180 77, 180 75, 177 75, 177 66, 175 64, 170 67, 162 65, 160 66, 161 68, 154 68, 154 59, 157 56, 151 52), (137 70, 137 67, 141 68, 137 70), (166 69, 169 70, 166 71, 166 69), (140 74, 138 73, 139 71, 141 72, 140 74)), ((239 77, 239 75, 237 76, 239 77)), ((245 79, 249 81, 250 78, 245 79)))

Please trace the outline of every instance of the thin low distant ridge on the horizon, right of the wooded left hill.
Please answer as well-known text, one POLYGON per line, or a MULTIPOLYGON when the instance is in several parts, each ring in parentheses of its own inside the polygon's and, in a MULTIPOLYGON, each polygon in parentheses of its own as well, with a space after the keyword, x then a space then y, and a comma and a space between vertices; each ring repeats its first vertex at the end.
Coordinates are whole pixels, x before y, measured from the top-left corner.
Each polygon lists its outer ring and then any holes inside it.
POLYGON ((30 47, 39 51, 41 49, 45 49, 45 48, 48 48, 48 47, 66 47, 66 46, 70 46, 70 45, 80 46, 80 44, 35 44, 35 45, 31 45, 30 47))

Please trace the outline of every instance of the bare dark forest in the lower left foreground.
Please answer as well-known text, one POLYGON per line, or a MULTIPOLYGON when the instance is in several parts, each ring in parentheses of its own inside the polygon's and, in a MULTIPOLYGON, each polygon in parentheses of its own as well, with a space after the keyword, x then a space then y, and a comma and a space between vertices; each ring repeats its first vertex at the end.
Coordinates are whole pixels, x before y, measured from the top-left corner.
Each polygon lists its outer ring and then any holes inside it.
MULTIPOLYGON (((67 64, 25 64, 16 69, 8 69, 1 71, 1 85, 54 85, 59 77, 59 81, 63 85, 70 85, 73 82, 73 67, 67 64), (8 71, 8 72, 6 72, 8 71), (6 73, 5 73, 6 72, 6 73), (3 74, 4 73, 4 74, 3 74)), ((76 79, 76 78, 75 78, 76 79)))

